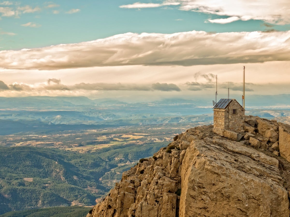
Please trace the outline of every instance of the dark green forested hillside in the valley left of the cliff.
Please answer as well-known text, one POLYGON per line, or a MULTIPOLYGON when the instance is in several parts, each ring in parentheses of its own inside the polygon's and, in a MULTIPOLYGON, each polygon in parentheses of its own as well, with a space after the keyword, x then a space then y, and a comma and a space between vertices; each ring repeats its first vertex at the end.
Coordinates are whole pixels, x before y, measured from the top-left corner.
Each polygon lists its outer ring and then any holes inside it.
POLYGON ((144 154, 151 156, 164 145, 116 145, 87 153, 0 147, 0 214, 60 205, 94 205, 110 190, 110 180, 120 179, 132 162, 144 154))

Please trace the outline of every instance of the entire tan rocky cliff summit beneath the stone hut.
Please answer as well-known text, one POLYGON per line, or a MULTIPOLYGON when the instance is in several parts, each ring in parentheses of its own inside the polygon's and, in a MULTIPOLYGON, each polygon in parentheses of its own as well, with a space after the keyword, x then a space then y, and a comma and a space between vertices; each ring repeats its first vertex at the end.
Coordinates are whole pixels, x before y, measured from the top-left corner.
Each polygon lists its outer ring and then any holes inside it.
POLYGON ((289 217, 290 127, 250 116, 238 135, 224 134, 202 126, 176 136, 87 217, 289 217))

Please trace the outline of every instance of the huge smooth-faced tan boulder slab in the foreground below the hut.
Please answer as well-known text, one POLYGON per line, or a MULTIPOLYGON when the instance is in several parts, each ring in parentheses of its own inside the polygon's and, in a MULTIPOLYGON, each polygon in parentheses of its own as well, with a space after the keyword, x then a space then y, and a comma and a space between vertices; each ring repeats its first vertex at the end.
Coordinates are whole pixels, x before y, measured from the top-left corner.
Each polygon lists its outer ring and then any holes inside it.
POLYGON ((183 159, 180 216, 289 216, 277 167, 278 160, 238 142, 195 142, 183 159))

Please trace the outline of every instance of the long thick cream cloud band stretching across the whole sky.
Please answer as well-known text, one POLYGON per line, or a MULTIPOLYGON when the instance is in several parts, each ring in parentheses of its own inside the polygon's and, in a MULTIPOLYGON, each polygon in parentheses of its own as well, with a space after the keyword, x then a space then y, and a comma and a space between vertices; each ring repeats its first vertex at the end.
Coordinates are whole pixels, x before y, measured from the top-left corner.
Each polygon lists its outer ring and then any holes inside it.
POLYGON ((290 60, 290 31, 126 33, 95 41, 0 51, 4 69, 212 65, 290 60))

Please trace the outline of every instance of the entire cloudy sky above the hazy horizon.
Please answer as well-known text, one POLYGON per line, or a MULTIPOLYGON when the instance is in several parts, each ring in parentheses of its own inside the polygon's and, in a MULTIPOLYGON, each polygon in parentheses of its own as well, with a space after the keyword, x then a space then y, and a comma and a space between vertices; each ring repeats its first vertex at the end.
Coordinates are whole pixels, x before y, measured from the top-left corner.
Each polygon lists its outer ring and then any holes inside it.
POLYGON ((0 0, 0 96, 290 94, 288 0, 0 0))

